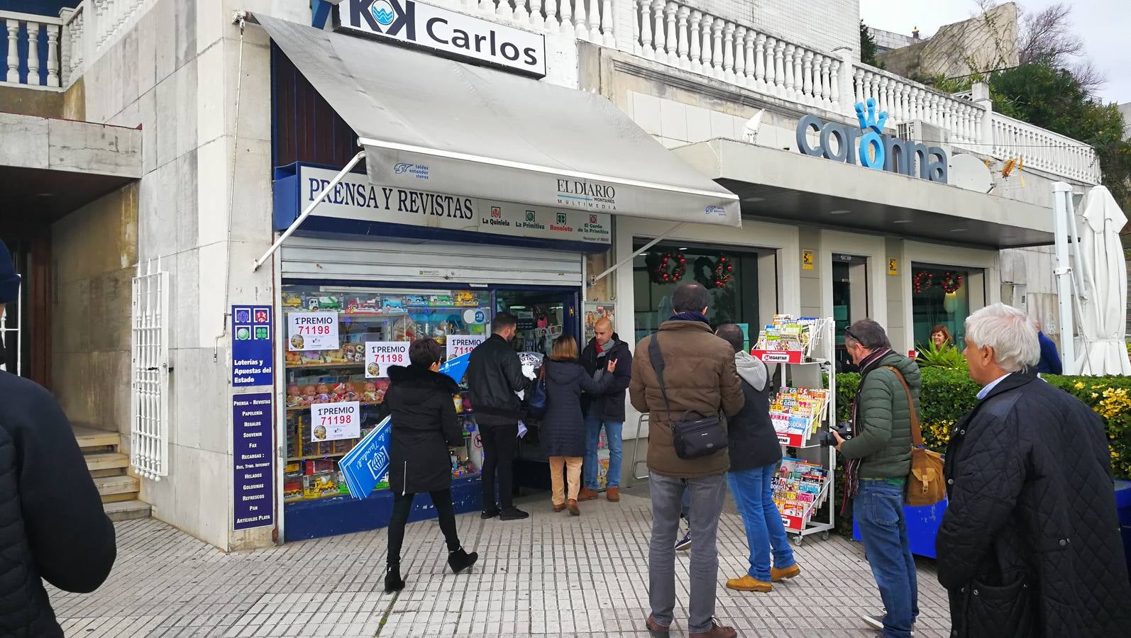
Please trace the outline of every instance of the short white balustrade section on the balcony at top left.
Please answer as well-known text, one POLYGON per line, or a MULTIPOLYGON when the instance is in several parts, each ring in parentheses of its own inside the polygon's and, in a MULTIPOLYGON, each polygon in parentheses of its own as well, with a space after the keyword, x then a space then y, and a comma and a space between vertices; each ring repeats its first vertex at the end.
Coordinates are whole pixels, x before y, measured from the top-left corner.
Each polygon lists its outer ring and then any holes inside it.
POLYGON ((8 51, 3 80, 9 84, 59 87, 60 18, 0 11, 8 51), (44 55, 41 49, 46 49, 44 55), (23 51, 20 51, 23 50, 23 51))

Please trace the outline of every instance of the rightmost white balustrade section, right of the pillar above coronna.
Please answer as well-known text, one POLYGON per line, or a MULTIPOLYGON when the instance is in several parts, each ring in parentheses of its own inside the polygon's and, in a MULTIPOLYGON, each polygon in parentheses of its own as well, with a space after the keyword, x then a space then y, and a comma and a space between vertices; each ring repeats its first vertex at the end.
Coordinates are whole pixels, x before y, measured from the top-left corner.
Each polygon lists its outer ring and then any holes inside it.
POLYGON ((1096 149, 1081 141, 1000 113, 990 115, 990 129, 994 157, 1020 157, 1025 168, 1036 168, 1086 184, 1099 183, 1096 149))

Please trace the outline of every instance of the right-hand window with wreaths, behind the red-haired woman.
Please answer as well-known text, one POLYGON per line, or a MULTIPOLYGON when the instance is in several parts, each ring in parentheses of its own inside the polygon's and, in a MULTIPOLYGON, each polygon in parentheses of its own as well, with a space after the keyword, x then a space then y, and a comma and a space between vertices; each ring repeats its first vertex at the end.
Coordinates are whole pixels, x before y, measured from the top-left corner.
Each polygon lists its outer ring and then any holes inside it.
POLYGON ((931 330, 946 326, 955 347, 966 347, 966 317, 970 314, 969 271, 946 268, 912 269, 912 312, 915 344, 925 348, 931 330))

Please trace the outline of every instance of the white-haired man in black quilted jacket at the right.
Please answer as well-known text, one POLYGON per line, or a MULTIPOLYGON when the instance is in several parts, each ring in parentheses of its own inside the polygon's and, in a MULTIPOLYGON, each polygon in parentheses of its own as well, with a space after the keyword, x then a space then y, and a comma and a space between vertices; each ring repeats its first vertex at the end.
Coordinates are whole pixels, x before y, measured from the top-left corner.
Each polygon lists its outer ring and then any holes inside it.
POLYGON ((995 304, 966 320, 977 407, 951 430, 939 582, 951 636, 1125 635, 1131 585, 1104 422, 1037 378, 1037 331, 995 304))

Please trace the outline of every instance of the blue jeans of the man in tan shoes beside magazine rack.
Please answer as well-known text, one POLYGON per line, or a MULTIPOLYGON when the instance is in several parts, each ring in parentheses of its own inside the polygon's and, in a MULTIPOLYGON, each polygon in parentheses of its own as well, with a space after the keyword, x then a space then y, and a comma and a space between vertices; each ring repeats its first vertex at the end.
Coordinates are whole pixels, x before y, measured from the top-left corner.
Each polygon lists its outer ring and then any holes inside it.
POLYGON ((762 583, 770 582, 770 548, 774 550, 774 567, 785 569, 797 562, 785 535, 782 514, 774 505, 770 487, 775 470, 777 463, 727 473, 734 505, 746 528, 746 544, 750 545, 748 574, 762 583))

